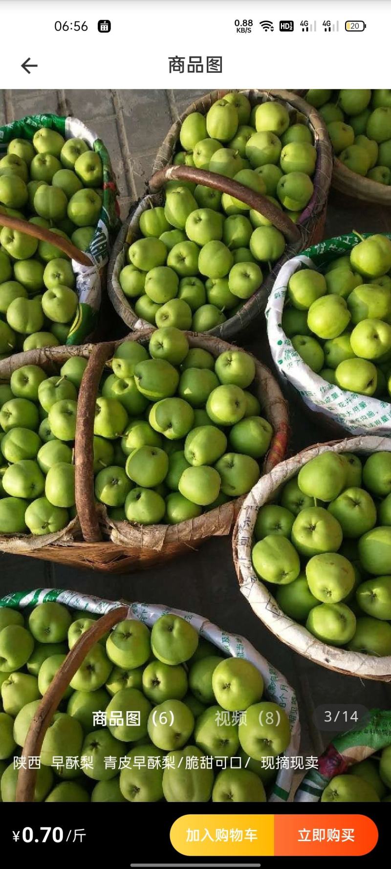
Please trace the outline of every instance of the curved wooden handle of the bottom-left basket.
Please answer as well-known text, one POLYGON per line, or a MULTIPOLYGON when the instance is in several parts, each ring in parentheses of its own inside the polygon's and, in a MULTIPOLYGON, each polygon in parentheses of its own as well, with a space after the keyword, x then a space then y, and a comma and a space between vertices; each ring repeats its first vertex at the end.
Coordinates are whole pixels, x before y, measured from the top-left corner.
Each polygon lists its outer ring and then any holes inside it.
MULTIPOLYGON (((60 700, 70 685, 76 670, 83 664, 83 660, 89 649, 95 646, 98 640, 101 640, 111 627, 118 624, 119 621, 126 619, 129 612, 129 607, 120 606, 110 609, 109 613, 96 620, 92 627, 86 631, 77 640, 75 646, 70 649, 67 657, 63 661, 61 667, 57 670, 56 676, 50 683, 50 687, 43 694, 43 698, 36 710, 34 718, 31 720, 30 727, 23 746, 23 757, 39 757, 43 744, 44 735, 50 725, 53 715, 60 700)), ((34 802, 34 791, 36 787, 36 769, 29 769, 21 766, 17 777, 17 803, 32 803, 34 802)))

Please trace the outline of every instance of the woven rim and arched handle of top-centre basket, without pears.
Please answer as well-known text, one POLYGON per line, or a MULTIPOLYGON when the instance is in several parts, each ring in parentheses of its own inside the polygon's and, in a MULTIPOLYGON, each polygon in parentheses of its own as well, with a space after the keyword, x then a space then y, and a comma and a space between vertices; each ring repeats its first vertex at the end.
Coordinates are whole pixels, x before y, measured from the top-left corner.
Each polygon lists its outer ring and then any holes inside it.
POLYGON ((243 91, 249 97, 252 105, 269 99, 279 100, 287 107, 293 122, 295 122, 298 116, 301 116, 301 118, 303 116, 312 131, 317 149, 317 162, 315 177, 313 179, 314 195, 310 202, 308 202, 307 208, 302 212, 300 222, 297 224, 293 223, 280 209, 275 208, 273 203, 269 202, 265 196, 256 195, 254 191, 250 192, 249 188, 237 185, 237 182, 229 178, 218 176, 216 173, 204 172, 201 169, 193 169, 189 166, 171 165, 176 152, 176 145, 179 141, 179 132, 183 119, 192 111, 199 111, 205 114, 210 106, 216 100, 221 99, 226 93, 228 93, 227 90, 215 90, 207 96, 196 100, 173 124, 156 156, 154 176, 149 182, 149 196, 145 196, 138 203, 136 209, 132 209, 128 220, 124 222, 123 228, 117 236, 109 262, 109 298, 114 308, 116 308, 117 314, 131 329, 146 328, 150 324, 138 318, 131 308, 129 300, 121 289, 118 280, 119 272, 125 265, 128 245, 136 241, 136 238, 140 235, 138 223, 142 211, 162 205, 162 186, 169 179, 193 181, 222 190, 222 192, 229 193, 231 196, 236 196, 242 202, 249 204, 250 208, 260 211, 263 215, 267 216, 275 227, 282 231, 282 234, 286 238, 287 247, 284 254, 278 262, 275 262, 269 275, 262 282, 262 286, 255 290, 255 294, 242 305, 242 308, 236 315, 230 317, 222 325, 210 329, 210 334, 220 335, 225 340, 235 337, 243 329, 254 325, 255 318, 261 315, 265 309, 268 293, 282 264, 287 262, 291 256, 306 248, 308 244, 318 242, 323 237, 328 189, 332 173, 331 145, 321 116, 308 103, 305 103, 301 96, 292 94, 288 90, 243 91))

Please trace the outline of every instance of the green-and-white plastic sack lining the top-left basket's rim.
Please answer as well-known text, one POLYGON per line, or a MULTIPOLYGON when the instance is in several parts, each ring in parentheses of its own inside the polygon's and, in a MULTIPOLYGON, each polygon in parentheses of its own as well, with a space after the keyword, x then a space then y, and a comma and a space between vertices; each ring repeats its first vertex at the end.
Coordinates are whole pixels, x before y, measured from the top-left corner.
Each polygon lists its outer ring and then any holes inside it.
POLYGON ((109 260, 111 243, 119 227, 116 205, 116 178, 111 168, 109 152, 102 140, 76 117, 57 115, 29 115, 0 127, 0 157, 7 152, 11 139, 32 140, 37 129, 55 129, 65 139, 81 138, 89 148, 96 151, 103 163, 103 202, 96 232, 86 253, 91 265, 82 266, 72 261, 76 275, 76 292, 79 306, 70 327, 67 344, 83 344, 94 332, 98 321, 103 294, 103 269, 109 260))

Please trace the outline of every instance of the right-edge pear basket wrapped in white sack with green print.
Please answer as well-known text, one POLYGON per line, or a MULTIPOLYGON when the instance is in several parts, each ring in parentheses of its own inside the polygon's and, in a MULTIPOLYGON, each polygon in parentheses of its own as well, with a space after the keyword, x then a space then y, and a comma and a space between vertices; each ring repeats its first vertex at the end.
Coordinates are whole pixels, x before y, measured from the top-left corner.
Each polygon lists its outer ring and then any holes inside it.
POLYGON ((391 236, 354 233, 283 266, 268 300, 282 381, 350 434, 391 434, 391 236))

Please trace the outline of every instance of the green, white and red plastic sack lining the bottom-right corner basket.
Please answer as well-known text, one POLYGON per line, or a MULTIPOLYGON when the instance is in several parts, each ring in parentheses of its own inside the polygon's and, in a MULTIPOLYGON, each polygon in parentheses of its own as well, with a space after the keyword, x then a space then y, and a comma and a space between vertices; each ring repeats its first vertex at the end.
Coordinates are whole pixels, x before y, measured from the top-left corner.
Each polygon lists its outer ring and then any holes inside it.
POLYGON ((330 742, 295 793, 297 803, 316 803, 335 775, 348 773, 350 766, 380 752, 391 744, 391 710, 371 709, 353 730, 340 733, 330 742))

